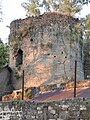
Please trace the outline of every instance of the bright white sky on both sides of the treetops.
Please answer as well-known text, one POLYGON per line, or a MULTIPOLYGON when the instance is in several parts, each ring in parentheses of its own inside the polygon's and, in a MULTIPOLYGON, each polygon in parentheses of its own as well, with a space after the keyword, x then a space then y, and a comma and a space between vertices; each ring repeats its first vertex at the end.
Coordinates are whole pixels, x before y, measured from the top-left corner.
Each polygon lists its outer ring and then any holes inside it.
MULTIPOLYGON (((2 0, 2 19, 0 22, 0 38, 4 43, 8 42, 9 28, 10 23, 15 19, 25 18, 26 11, 21 6, 21 3, 25 0, 2 0)), ((84 5, 83 10, 78 15, 79 17, 85 17, 85 15, 90 12, 90 3, 89 5, 84 5)))

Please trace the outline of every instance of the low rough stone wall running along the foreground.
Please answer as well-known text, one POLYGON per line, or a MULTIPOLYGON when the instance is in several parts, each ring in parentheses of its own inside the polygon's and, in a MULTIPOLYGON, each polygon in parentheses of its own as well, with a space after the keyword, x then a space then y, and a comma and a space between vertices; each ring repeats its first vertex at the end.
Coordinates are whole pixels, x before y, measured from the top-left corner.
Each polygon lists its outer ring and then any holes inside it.
POLYGON ((90 99, 0 102, 0 120, 90 120, 90 99))

